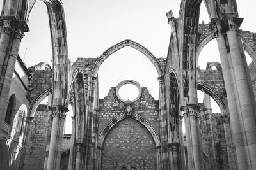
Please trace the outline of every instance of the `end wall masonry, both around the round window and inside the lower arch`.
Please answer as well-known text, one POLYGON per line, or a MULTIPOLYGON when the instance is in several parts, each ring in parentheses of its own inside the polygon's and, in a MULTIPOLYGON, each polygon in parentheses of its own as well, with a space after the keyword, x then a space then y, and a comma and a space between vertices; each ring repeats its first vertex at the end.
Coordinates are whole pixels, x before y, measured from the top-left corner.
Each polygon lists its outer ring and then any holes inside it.
MULTIPOLYGON (((147 120, 160 134, 159 105, 141 87, 142 94, 132 103, 134 113, 147 120)), ((124 113, 124 103, 116 97, 116 88, 109 90, 108 96, 99 100, 98 136, 108 122, 124 113)), ((156 145, 147 128, 133 118, 118 122, 107 134, 102 146, 102 169, 113 169, 120 164, 144 164, 145 169, 156 169, 156 145)))

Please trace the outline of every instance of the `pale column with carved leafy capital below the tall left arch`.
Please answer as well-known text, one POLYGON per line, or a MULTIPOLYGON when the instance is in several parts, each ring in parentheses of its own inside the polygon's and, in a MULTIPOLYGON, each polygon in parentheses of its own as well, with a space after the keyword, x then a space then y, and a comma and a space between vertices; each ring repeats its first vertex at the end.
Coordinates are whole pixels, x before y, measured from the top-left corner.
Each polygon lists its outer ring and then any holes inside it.
POLYGON ((49 106, 52 116, 51 139, 49 145, 49 155, 47 159, 47 169, 60 169, 61 139, 63 137, 63 121, 66 117, 67 107, 49 106))

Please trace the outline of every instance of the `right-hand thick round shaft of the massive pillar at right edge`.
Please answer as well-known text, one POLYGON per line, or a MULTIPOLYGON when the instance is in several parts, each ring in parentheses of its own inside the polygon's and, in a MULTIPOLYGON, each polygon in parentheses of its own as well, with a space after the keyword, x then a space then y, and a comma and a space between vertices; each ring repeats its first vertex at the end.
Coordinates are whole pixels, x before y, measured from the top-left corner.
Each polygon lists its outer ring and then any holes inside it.
MULTIPOLYGON (((234 20, 232 20, 234 22, 234 20)), ((244 149, 246 154, 246 163, 248 169, 256 169, 256 122, 253 104, 250 97, 250 87, 244 69, 244 64, 237 41, 237 34, 235 29, 227 31, 228 43, 230 45, 230 61, 232 64, 232 71, 234 77, 233 82, 236 84, 236 103, 239 113, 239 120, 241 120, 242 136, 244 138, 244 149)), ((241 147, 243 150, 243 146, 241 147)), ((237 155, 239 160, 240 155, 237 155)), ((246 166, 239 166, 239 169, 244 169, 246 166)))

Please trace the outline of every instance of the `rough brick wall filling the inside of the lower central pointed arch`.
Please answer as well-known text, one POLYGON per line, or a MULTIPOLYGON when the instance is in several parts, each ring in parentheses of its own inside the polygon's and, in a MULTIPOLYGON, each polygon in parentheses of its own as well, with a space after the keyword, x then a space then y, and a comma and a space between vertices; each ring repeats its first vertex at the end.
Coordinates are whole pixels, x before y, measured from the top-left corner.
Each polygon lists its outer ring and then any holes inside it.
POLYGON ((156 169, 156 146, 151 134, 140 122, 125 118, 113 127, 102 149, 102 170, 114 169, 114 164, 138 164, 156 169))

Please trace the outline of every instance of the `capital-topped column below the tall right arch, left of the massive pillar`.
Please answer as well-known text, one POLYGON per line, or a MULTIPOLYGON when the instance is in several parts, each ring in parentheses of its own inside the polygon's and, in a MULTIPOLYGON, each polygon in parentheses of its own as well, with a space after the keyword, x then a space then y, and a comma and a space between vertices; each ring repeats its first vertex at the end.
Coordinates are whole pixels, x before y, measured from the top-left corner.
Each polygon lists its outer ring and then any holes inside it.
POLYGON ((191 156, 193 158, 193 166, 189 165, 191 169, 204 169, 204 158, 202 155, 201 146, 201 134, 199 127, 199 117, 198 117, 198 105, 197 104, 187 104, 190 123, 190 146, 191 146, 191 156))

